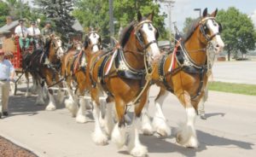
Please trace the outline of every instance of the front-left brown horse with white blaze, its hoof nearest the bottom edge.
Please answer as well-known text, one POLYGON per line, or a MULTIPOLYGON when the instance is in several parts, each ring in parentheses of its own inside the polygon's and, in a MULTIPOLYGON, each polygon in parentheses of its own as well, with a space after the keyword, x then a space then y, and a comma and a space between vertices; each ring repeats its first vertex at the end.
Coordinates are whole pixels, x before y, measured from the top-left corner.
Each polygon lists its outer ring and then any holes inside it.
MULTIPOLYGON (((91 90, 94 105, 95 131, 93 140, 97 144, 106 144, 107 135, 100 125, 99 97, 105 91, 107 98, 107 113, 105 129, 111 134, 112 141, 122 148, 125 144, 125 109, 129 102, 134 104, 134 120, 129 141, 129 151, 135 156, 147 154, 147 148, 141 144, 138 137, 138 122, 141 111, 148 99, 147 76, 151 72, 150 64, 160 55, 157 45, 158 30, 153 26, 154 13, 143 18, 137 14, 137 21, 125 27, 120 38, 120 49, 113 53, 99 52, 91 58, 90 74, 95 83, 91 90), (143 89, 143 90, 142 90, 143 89), (112 107, 115 105, 118 122, 113 128, 111 119, 112 107), (113 131, 112 131, 113 130, 113 131)), ((149 77, 148 77, 149 78, 149 77)))

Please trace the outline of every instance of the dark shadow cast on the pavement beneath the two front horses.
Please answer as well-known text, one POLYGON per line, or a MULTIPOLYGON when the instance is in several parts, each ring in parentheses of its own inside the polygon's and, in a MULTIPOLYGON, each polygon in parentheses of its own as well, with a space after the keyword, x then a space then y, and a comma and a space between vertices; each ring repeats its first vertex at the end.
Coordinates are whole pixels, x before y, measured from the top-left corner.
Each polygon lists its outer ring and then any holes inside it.
MULTIPOLYGON (((174 132, 170 137, 167 138, 157 138, 154 136, 143 136, 140 135, 141 142, 148 147, 148 153, 179 153, 183 154, 184 156, 196 156, 197 152, 201 152, 203 150, 207 150, 207 146, 235 146, 238 148, 243 149, 253 149, 252 146, 254 145, 251 142, 242 142, 237 140, 232 140, 225 137, 218 137, 211 135, 207 132, 197 131, 197 137, 200 142, 199 148, 184 148, 177 144, 177 142, 168 142, 166 139, 173 139, 175 138, 175 131, 176 129, 172 129, 174 132)), ((119 151, 119 154, 128 154, 127 151, 122 150, 119 151)))

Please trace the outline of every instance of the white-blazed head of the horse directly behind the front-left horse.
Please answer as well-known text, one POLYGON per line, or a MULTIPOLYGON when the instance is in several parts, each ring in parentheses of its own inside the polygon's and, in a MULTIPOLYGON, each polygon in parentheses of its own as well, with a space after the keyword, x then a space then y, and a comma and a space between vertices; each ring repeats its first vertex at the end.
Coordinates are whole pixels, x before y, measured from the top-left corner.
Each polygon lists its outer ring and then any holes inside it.
POLYGON ((102 49, 102 38, 98 34, 98 30, 90 28, 84 39, 84 49, 91 49, 93 53, 102 49))

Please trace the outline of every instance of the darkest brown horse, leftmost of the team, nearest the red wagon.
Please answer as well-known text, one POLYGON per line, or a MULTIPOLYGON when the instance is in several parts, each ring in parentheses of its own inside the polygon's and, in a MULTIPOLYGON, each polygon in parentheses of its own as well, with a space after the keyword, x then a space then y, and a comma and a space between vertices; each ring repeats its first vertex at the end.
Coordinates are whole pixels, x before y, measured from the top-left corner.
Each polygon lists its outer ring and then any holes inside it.
MULTIPOLYGON (((61 38, 50 35, 49 42, 46 45, 47 49, 36 49, 30 58, 32 64, 32 75, 38 84, 38 98, 36 104, 44 104, 44 81, 47 86, 51 86, 60 80, 59 68, 61 67, 61 57, 64 55, 64 50, 62 49, 61 38)), ((62 84, 58 86, 63 87, 62 84)), ((55 99, 53 96, 53 90, 48 89, 49 94, 49 104, 46 110, 55 110, 55 99)), ((61 102, 64 96, 64 91, 62 90, 58 100, 61 102)))

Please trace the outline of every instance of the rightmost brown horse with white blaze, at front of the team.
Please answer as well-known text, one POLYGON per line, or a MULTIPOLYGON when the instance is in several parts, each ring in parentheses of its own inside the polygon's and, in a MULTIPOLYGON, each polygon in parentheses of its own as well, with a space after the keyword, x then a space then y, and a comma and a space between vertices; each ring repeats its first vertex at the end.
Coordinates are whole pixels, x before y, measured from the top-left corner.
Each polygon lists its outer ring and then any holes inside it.
POLYGON ((217 13, 216 9, 208 15, 205 9, 202 17, 194 21, 186 38, 177 42, 172 54, 163 56, 153 66, 152 80, 160 87, 160 93, 155 99, 154 130, 161 136, 171 133, 162 111, 162 103, 169 90, 186 109, 187 121, 177 131, 177 142, 189 148, 198 147, 195 116, 205 94, 208 74, 211 73, 209 64, 212 64, 214 58, 210 55, 218 54, 224 48, 220 37, 221 25, 215 20, 217 13))

